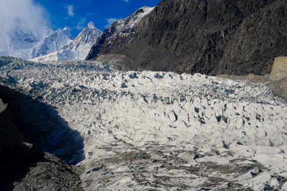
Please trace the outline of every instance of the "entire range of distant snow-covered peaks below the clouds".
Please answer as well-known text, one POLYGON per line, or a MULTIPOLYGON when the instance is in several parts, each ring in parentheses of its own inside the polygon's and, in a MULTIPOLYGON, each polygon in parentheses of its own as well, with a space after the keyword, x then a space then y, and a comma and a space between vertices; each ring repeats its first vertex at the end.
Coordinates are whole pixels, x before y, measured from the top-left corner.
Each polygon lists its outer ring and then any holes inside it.
POLYGON ((14 56, 34 61, 84 60, 102 31, 89 22, 74 39, 68 28, 53 32, 48 27, 27 30, 21 20, 9 34, 1 34, 0 56, 14 56))

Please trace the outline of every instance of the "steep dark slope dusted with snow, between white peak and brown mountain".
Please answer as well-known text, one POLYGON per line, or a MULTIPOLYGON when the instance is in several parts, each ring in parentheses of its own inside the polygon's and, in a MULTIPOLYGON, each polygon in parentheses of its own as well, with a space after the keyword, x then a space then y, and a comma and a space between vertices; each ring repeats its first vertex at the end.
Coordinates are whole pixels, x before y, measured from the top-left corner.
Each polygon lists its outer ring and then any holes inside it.
POLYGON ((136 27, 140 20, 150 13, 152 7, 144 6, 136 10, 130 16, 115 21, 105 29, 100 40, 93 45, 87 59, 93 59, 101 54, 107 54, 118 50, 124 44, 130 43, 134 37, 136 27))

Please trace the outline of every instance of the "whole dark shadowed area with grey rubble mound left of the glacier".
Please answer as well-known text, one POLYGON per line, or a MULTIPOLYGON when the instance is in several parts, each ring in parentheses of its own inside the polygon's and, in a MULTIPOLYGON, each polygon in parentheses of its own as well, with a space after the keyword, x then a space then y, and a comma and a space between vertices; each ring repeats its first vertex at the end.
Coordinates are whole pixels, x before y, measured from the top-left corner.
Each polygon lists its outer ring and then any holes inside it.
POLYGON ((84 158, 79 133, 37 99, 3 86, 0 97, 0 190, 80 191, 66 163, 84 158))

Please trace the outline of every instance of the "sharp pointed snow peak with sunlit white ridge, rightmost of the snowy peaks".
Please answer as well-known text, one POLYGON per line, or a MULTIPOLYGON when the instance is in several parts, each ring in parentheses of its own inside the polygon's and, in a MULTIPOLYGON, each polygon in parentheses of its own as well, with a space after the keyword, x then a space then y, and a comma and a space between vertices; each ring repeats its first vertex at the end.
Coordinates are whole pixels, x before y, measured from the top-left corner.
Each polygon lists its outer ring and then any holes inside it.
POLYGON ((102 31, 97 29, 93 22, 89 22, 81 33, 61 50, 32 59, 32 61, 84 60, 101 35, 102 31))

